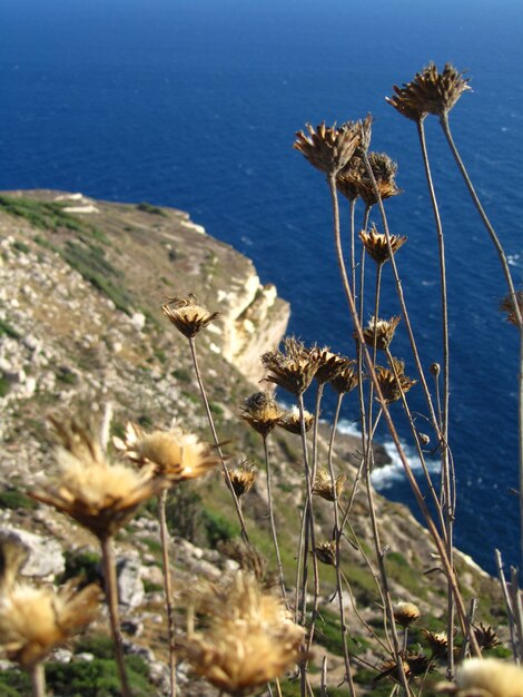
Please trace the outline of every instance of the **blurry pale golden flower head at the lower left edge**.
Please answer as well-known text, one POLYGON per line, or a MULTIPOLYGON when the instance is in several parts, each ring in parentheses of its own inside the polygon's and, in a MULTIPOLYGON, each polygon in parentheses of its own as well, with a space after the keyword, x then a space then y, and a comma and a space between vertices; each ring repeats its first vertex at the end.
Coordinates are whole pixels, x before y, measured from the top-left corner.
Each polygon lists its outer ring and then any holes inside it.
POLYGON ((0 595, 0 651, 30 670, 57 646, 91 622, 101 591, 95 583, 58 590, 16 583, 0 595))

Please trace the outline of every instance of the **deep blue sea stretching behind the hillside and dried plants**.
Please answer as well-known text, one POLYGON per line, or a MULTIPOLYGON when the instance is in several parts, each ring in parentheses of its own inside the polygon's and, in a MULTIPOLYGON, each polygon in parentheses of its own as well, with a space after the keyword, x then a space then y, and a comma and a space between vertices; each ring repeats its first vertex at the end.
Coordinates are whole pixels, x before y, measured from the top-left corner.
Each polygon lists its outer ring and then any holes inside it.
MULTIPOLYGON (((387 213, 392 232, 408 236, 397 263, 428 366, 441 361, 433 216, 415 127, 384 97, 430 60, 468 70, 473 92, 451 124, 521 284, 519 0, 2 0, 0 189, 57 188, 188 210, 290 301, 292 333, 353 354, 327 187, 292 146, 306 121, 371 111, 372 148, 399 167, 404 194, 387 213)), ((426 127, 452 306, 455 539, 492 572, 495 547, 519 562, 510 492, 519 487, 517 335, 497 311, 506 291, 491 243, 437 121, 426 127)), ((363 209, 356 215, 361 225, 363 209)), ((377 213, 373 219, 381 227, 377 213)), ((398 312, 389 268, 382 307, 384 316, 398 312)), ((393 347, 413 373, 404 331, 393 347)), ((411 395, 423 430, 421 390, 411 395)), ((393 410, 406 438, 401 406, 393 410)), ((346 426, 356 414, 348 397, 346 426)), ((386 432, 379 438, 386 442, 386 432)), ((375 481, 415 509, 398 467, 375 481)))

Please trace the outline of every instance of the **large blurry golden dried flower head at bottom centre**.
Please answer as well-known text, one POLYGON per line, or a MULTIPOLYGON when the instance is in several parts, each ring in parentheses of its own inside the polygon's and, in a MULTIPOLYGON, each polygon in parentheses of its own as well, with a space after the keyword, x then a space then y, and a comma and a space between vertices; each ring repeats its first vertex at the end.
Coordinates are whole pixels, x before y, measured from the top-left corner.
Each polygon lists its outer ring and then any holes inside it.
POLYGON ((253 576, 226 577, 198 600, 208 626, 205 634, 180 640, 180 654, 197 675, 227 695, 253 695, 299 659, 304 629, 253 576))

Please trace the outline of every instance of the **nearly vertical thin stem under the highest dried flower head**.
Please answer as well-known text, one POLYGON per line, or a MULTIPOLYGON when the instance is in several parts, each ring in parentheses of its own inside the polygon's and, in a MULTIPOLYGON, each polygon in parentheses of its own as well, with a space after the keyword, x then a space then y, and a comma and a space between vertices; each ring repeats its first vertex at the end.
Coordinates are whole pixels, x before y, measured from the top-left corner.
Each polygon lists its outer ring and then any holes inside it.
MULTIPOLYGON (((431 195, 434 222, 436 224, 437 251, 440 254, 440 285, 442 296, 442 338, 443 338, 443 404, 441 413, 441 449, 442 449, 442 485, 443 485, 443 517, 445 521, 446 548, 448 560, 453 562, 453 528, 455 516, 455 500, 451 489, 451 460, 448 458, 448 406, 450 406, 450 347, 448 347, 448 302, 446 289, 446 266, 445 266, 445 238, 437 206, 436 193, 432 180, 431 165, 425 141, 424 119, 418 119, 417 135, 422 149, 423 164, 427 180, 428 193, 431 195)), ((454 602, 452 592, 447 593, 447 670, 446 677, 452 680, 454 675, 454 602)))

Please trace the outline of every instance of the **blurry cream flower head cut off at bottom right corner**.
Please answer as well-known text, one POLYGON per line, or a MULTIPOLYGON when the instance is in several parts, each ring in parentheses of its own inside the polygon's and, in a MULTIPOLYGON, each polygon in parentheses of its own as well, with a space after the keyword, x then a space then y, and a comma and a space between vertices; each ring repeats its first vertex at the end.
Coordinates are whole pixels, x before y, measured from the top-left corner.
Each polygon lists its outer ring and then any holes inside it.
POLYGON ((437 690, 456 697, 521 697, 523 668, 496 658, 470 658, 457 667, 455 685, 440 684, 437 690))

